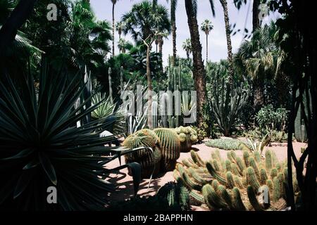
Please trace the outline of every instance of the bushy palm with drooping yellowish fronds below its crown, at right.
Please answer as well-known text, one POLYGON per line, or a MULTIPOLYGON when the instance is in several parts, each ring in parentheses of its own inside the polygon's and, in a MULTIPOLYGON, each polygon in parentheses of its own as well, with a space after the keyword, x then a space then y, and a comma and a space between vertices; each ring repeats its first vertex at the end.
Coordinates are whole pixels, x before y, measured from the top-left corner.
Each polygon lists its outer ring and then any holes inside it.
POLYGON ((255 109, 265 104, 264 89, 267 79, 275 78, 278 83, 284 80, 284 85, 278 86, 280 104, 282 104, 282 96, 287 95, 285 75, 280 71, 280 64, 285 53, 275 44, 276 32, 278 30, 273 22, 269 26, 255 30, 251 41, 244 41, 235 54, 237 71, 251 77, 253 81, 255 109))

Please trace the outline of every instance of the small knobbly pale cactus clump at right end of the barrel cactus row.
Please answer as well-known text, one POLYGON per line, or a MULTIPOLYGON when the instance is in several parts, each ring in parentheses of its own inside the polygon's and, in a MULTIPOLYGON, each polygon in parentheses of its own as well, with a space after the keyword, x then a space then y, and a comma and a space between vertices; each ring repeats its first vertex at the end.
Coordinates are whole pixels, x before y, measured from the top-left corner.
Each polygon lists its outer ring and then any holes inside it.
POLYGON ((192 127, 178 127, 175 128, 178 134, 178 139, 180 139, 180 151, 182 153, 187 153, 192 148, 192 144, 197 142, 197 131, 192 127))

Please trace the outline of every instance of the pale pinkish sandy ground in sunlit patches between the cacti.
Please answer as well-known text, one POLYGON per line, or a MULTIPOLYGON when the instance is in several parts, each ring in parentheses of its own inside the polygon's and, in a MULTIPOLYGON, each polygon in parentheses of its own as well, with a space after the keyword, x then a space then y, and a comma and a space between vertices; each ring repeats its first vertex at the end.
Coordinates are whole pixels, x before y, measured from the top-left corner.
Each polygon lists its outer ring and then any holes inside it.
MULTIPOLYGON (((205 140, 207 141, 207 140, 205 140)), ((306 146, 306 143, 293 143, 294 146, 294 152, 297 155, 297 158, 300 157, 301 154, 301 148, 306 146)), ((204 143, 201 143, 199 145, 193 146, 194 150, 197 150, 197 153, 203 160, 209 160, 211 158, 211 151, 214 150, 214 148, 207 147, 204 143)), ((287 159, 287 143, 272 143, 271 147, 266 147, 265 150, 274 150, 278 160, 286 160, 287 159)), ((226 150, 220 150, 220 155, 223 158, 227 158, 227 152, 226 150)), ((238 156, 242 156, 241 150, 235 151, 238 156)), ((190 153, 180 153, 180 158, 178 159, 178 162, 181 162, 182 159, 190 158, 190 153)), ((124 163, 124 158, 122 158, 122 162, 124 163)), ((107 168, 115 168, 119 166, 118 160, 115 160, 107 165, 107 168)), ((112 174, 110 180, 116 181, 118 184, 118 189, 116 192, 111 193, 109 196, 110 202, 112 201, 121 201, 121 200, 127 200, 131 197, 133 197, 134 189, 133 189, 133 181, 132 176, 128 175, 128 169, 122 169, 118 174, 112 174)), ((159 190, 161 186, 168 183, 169 181, 175 181, 173 178, 173 172, 168 172, 166 174, 161 174, 158 178, 152 179, 151 184, 149 185, 149 179, 143 179, 142 183, 139 186, 138 195, 155 195, 156 191, 159 190)))

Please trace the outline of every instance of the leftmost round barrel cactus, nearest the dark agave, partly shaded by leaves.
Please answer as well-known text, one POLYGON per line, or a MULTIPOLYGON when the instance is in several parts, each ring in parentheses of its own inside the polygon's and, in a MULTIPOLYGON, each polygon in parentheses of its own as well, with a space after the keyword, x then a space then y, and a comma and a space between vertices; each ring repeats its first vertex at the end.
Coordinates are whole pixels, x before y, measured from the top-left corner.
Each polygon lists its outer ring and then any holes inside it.
POLYGON ((151 174, 156 176, 159 174, 160 161, 161 161, 161 146, 159 137, 149 129, 142 129, 135 134, 131 134, 123 142, 123 146, 126 148, 140 148, 149 147, 153 150, 144 149, 138 150, 134 153, 125 155, 125 161, 139 162, 142 167, 142 178, 149 178, 151 174))

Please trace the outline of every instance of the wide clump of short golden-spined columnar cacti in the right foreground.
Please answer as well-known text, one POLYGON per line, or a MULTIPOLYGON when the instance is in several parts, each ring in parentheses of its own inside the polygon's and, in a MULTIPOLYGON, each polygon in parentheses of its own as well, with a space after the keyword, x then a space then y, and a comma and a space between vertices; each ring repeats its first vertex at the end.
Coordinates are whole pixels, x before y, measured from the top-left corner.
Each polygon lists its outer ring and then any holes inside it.
MULTIPOLYGON (((195 201, 210 210, 282 210, 287 207, 287 164, 278 162, 273 151, 267 150, 265 160, 259 151, 228 152, 228 159, 220 151, 211 153, 204 162, 194 151, 192 158, 182 160, 174 170, 175 179, 189 188, 195 201)), ((292 175, 294 176, 294 174, 292 175)), ((297 180, 294 191, 299 194, 297 180)))

